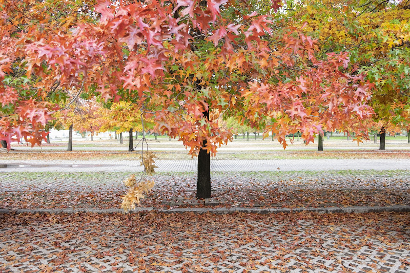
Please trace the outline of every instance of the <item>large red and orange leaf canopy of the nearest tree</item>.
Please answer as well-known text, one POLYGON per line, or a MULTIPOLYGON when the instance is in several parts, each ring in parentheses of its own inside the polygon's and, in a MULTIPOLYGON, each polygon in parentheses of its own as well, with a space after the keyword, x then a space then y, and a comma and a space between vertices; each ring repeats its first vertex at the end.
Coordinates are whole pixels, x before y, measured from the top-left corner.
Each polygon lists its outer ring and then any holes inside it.
POLYGON ((366 135, 362 120, 373 113, 373 83, 347 70, 346 52, 318 57, 320 44, 306 34, 306 24, 280 23, 279 6, 6 2, 0 139, 40 143, 40 130, 72 90, 133 102, 192 155, 202 148, 215 155, 232 140, 232 131, 218 126, 224 116, 265 128, 283 148, 286 134, 300 131, 309 143, 323 126, 366 135))

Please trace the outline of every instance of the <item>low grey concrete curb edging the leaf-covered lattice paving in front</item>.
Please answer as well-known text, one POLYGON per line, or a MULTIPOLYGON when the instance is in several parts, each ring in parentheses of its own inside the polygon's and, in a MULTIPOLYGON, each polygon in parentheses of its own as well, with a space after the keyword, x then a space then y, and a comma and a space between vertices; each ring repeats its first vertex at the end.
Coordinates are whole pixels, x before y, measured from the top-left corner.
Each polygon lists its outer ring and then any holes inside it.
MULTIPOLYGON (((172 208, 172 209, 157 209, 153 207, 136 208, 130 213, 187 213, 193 212, 196 214, 231 214, 231 213, 253 213, 253 214, 278 214, 278 213, 298 213, 298 212, 312 212, 321 214, 332 213, 382 213, 382 212, 396 212, 404 213, 410 212, 410 206, 394 205, 394 206, 348 206, 348 207, 298 207, 298 208, 253 208, 253 207, 186 207, 186 208, 172 208)), ((49 214, 75 214, 75 213, 97 213, 97 214, 114 214, 124 213, 119 208, 109 209, 94 209, 94 208, 65 208, 65 209, 0 209, 0 214, 20 214, 20 213, 49 213, 49 214)))

